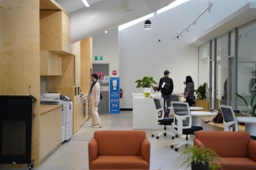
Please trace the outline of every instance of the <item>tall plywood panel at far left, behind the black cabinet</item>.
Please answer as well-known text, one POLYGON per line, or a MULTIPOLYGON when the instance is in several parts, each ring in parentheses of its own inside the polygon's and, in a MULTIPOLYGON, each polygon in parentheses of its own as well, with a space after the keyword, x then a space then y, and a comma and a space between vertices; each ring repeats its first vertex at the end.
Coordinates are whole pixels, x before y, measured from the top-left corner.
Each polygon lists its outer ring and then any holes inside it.
POLYGON ((40 18, 38 0, 1 1, 0 95, 33 95, 31 158, 39 166, 40 18), (29 86, 31 86, 29 88, 29 86))

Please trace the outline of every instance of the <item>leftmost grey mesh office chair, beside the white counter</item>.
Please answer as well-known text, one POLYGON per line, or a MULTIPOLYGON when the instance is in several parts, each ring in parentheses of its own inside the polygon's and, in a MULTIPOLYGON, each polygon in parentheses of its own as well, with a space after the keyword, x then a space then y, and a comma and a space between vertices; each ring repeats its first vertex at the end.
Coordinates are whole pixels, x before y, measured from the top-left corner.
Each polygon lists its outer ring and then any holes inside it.
POLYGON ((156 139, 159 139, 160 135, 164 135, 167 136, 167 133, 169 135, 171 135, 171 138, 174 139, 175 135, 173 135, 173 133, 167 131, 167 125, 172 125, 173 124, 173 118, 169 118, 169 117, 165 117, 165 109, 164 106, 162 105, 162 101, 160 98, 158 97, 154 97, 154 103, 156 105, 156 110, 155 110, 155 122, 156 124, 159 125, 163 125, 164 130, 163 131, 157 131, 152 133, 152 137, 154 137, 154 135, 158 134, 156 136, 156 139))

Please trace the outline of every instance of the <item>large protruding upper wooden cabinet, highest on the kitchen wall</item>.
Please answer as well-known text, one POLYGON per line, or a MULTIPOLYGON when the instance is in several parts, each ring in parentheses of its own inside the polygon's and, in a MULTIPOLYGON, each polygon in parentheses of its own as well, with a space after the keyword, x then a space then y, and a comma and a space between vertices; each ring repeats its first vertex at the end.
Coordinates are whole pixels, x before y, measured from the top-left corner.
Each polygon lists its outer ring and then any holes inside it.
POLYGON ((40 10, 40 50, 72 52, 70 17, 64 12, 40 10))

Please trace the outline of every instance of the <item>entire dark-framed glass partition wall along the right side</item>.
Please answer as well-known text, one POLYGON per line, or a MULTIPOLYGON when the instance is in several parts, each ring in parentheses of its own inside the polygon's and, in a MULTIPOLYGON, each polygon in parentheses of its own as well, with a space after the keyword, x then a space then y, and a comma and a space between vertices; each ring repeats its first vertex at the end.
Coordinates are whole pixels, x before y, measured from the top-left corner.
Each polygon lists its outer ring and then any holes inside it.
MULTIPOLYGON (((210 107, 245 109, 256 92, 256 20, 199 47, 198 84, 208 84, 210 107)), ((253 101, 256 103, 256 97, 253 101)), ((251 109, 251 108, 250 108, 251 109)))

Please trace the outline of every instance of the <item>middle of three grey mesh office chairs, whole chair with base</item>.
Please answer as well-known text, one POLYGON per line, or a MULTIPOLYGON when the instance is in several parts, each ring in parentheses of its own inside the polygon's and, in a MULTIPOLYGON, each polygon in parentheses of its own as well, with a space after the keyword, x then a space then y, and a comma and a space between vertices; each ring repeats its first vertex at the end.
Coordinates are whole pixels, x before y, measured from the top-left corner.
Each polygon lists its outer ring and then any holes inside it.
MULTIPOLYGON (((192 116, 188 103, 172 101, 171 106, 173 107, 173 127, 177 130, 177 135, 186 135, 186 141, 179 143, 175 151, 178 151, 180 146, 193 146, 193 141, 188 140, 188 135, 195 135, 196 131, 203 130, 202 126, 192 126, 192 116)), ((171 145, 171 148, 174 144, 171 145)))

